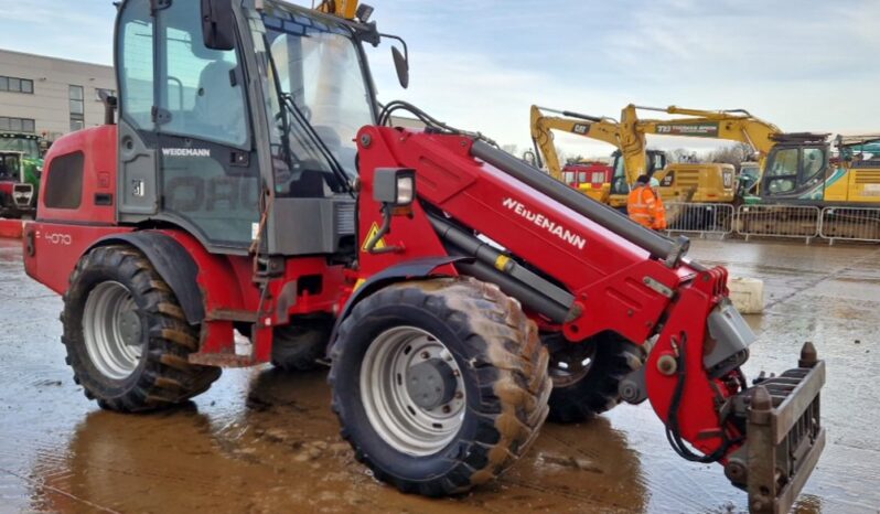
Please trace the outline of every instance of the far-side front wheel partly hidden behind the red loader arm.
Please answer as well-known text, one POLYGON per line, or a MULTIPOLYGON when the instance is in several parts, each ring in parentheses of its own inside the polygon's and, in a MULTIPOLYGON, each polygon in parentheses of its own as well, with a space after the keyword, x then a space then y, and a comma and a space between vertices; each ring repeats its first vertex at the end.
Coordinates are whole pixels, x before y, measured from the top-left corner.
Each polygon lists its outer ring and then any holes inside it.
POLYGON ((616 406, 621 381, 644 362, 640 346, 613 332, 581 343, 571 343, 558 333, 545 334, 541 340, 550 350, 554 390, 549 417, 556 422, 583 421, 616 406))

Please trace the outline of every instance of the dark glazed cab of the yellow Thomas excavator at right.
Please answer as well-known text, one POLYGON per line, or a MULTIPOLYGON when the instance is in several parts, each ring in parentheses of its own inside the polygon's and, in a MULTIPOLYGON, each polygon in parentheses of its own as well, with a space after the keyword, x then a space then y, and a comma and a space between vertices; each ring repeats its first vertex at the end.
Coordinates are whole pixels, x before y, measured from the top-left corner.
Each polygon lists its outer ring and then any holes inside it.
POLYGON ((761 182, 765 197, 822 200, 829 151, 826 136, 783 135, 766 159, 761 182))

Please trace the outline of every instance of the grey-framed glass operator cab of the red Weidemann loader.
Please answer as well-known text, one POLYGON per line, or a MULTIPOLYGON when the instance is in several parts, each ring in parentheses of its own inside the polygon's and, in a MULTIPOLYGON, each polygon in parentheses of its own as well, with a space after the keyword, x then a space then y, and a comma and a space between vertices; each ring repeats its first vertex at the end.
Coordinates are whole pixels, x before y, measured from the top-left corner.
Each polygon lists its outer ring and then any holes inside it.
POLYGON ((377 120, 362 42, 380 35, 261 4, 120 7, 119 221, 180 226, 215 253, 352 251, 354 138, 377 120))

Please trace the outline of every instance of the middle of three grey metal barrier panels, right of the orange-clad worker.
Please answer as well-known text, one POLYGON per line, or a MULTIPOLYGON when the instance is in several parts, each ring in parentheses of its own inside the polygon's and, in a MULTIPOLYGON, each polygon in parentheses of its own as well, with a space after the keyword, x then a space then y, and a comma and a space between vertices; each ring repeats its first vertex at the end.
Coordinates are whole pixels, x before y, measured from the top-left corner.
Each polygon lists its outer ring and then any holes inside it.
POLYGON ((734 223, 737 234, 794 237, 809 242, 819 236, 822 212, 812 205, 740 205, 734 223))

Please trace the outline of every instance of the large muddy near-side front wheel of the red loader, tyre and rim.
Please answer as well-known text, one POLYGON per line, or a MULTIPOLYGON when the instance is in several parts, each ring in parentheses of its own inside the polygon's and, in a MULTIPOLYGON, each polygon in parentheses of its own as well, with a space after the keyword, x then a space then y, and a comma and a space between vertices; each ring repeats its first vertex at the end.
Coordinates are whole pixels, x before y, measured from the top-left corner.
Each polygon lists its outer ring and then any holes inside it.
POLYGON ((548 353, 535 323, 495 286, 473 279, 403 282, 373 293, 340 325, 332 361, 333 410, 342 437, 376 478, 405 493, 443 496, 495 479, 525 453, 547 417, 548 353), (415 366, 372 373, 382 368, 371 363, 398 357, 406 366, 430 357, 440 363, 438 370, 451 371, 452 399, 433 411, 416 404, 409 385, 400 385, 416 379, 415 366), (390 379, 374 378, 379 376, 390 379), (383 395, 391 390, 399 394, 383 395), (395 397, 404 398, 405 409, 376 408, 383 400, 400 407, 395 397), (421 439, 406 432, 417 442, 409 446, 389 430, 394 422, 388 420, 415 426, 426 416, 444 415, 451 418, 425 429, 429 435, 421 439))

